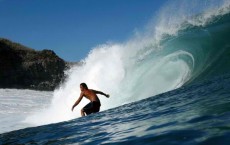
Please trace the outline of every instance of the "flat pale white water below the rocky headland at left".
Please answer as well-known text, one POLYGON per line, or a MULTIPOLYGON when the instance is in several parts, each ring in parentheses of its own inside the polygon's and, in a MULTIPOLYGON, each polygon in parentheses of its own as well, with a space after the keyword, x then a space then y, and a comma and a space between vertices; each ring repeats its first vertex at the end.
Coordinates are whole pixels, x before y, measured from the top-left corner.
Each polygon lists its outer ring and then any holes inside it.
POLYGON ((52 96, 45 91, 0 89, 0 133, 34 126, 25 118, 47 108, 52 96))

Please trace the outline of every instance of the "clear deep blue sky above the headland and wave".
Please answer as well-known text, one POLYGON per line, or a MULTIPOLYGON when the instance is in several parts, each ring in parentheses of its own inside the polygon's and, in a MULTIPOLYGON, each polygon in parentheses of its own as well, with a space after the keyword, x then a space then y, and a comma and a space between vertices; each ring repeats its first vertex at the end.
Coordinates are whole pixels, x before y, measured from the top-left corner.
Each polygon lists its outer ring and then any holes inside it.
POLYGON ((0 0, 0 38, 66 61, 142 31, 165 0, 0 0))

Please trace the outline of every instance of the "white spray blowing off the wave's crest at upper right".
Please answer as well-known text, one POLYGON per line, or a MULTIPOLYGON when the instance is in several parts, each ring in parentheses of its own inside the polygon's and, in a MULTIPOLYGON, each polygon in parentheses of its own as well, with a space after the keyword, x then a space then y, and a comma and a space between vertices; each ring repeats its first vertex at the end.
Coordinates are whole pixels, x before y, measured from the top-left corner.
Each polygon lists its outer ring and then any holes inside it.
MULTIPOLYGON (((156 26, 151 27, 155 39, 160 41, 164 35, 177 35, 185 28, 184 24, 205 26, 217 16, 230 12, 230 0, 174 0, 168 1, 156 17, 156 26)), ((152 23, 150 23, 152 24, 152 23)))

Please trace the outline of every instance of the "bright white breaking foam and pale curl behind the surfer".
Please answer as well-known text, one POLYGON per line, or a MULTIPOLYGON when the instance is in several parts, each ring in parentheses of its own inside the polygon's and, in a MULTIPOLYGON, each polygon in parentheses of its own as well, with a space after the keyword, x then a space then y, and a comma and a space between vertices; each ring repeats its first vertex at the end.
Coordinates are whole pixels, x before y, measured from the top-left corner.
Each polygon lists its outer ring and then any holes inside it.
POLYGON ((80 109, 89 101, 82 100, 74 112, 71 107, 79 97, 82 82, 110 94, 109 99, 99 96, 101 110, 106 110, 178 88, 189 78, 189 67, 178 59, 180 55, 190 56, 188 53, 178 51, 146 59, 146 54, 140 54, 143 45, 128 42, 94 48, 83 66, 70 70, 68 80, 54 92, 50 107, 29 116, 26 122, 41 125, 79 117, 80 109))

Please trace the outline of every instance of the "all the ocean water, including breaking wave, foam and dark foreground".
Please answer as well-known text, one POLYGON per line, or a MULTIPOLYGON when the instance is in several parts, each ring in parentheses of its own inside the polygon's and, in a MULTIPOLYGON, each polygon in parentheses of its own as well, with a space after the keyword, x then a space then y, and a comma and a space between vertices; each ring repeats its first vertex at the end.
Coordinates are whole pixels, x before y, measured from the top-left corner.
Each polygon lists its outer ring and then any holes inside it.
POLYGON ((0 144, 230 144, 229 0, 169 1, 82 64, 54 92, 0 89, 0 144), (81 82, 110 94, 99 113, 71 111, 81 82))

